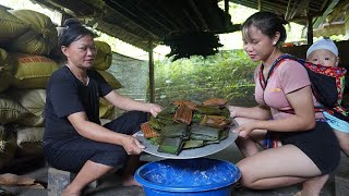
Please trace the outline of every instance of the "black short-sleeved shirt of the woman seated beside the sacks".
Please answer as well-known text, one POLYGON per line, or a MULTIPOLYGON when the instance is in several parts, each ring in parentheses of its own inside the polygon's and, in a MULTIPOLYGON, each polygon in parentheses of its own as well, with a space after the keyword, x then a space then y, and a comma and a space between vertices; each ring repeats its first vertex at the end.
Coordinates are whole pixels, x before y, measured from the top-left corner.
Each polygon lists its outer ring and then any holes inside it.
POLYGON ((45 145, 79 134, 68 120, 72 113, 84 111, 89 121, 100 124, 99 97, 112 89, 97 71, 88 70, 87 75, 87 86, 68 66, 51 75, 46 88, 45 145))

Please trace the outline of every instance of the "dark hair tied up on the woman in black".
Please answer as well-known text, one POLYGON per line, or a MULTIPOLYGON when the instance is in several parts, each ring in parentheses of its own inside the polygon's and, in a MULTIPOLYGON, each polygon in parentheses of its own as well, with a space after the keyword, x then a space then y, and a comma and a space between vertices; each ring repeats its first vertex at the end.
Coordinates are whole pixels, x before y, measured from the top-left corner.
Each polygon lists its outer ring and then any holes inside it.
POLYGON ((63 24, 63 30, 58 38, 58 47, 62 46, 69 47, 73 41, 79 40, 80 38, 89 35, 95 37, 95 34, 83 26, 79 21, 73 19, 65 20, 63 24))

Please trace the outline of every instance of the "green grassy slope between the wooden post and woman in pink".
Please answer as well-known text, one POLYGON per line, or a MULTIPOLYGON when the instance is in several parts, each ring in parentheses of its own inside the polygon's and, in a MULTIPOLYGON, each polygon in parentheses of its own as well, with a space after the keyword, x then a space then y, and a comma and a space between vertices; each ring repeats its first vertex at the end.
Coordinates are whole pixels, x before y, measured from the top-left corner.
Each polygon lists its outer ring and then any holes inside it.
POLYGON ((204 101, 226 98, 229 103, 254 106, 253 63, 243 50, 215 56, 155 62, 155 101, 167 106, 176 99, 204 101))

